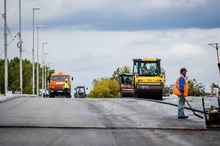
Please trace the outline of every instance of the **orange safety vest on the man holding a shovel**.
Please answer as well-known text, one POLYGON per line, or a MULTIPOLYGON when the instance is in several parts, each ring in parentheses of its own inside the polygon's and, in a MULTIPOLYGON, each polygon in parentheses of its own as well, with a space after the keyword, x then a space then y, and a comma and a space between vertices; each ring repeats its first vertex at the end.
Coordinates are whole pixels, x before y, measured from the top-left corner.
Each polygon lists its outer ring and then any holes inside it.
POLYGON ((189 85, 188 85, 188 81, 187 81, 186 77, 184 77, 182 74, 179 74, 177 76, 177 78, 176 78, 176 82, 175 82, 174 87, 173 87, 173 94, 175 94, 177 96, 181 95, 180 87, 179 87, 179 79, 180 79, 180 77, 183 77, 184 80, 185 80, 183 96, 186 97, 186 96, 188 96, 189 85))

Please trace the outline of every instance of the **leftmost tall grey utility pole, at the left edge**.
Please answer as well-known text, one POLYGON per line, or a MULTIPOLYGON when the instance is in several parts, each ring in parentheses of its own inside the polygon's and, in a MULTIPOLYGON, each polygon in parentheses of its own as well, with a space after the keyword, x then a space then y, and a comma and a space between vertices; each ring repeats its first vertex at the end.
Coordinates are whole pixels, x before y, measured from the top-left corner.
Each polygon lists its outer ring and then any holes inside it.
POLYGON ((5 96, 8 93, 8 43, 7 43, 7 15, 6 15, 6 0, 4 0, 4 49, 5 49, 5 96))

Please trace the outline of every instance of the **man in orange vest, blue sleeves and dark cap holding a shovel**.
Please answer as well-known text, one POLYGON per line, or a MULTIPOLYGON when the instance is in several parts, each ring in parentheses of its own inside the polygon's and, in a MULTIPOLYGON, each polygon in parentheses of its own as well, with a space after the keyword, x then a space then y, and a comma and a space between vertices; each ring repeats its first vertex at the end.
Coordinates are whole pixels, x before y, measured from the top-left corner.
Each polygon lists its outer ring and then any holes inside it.
POLYGON ((180 74, 176 78, 173 88, 173 94, 179 97, 178 104, 178 119, 187 119, 188 116, 184 114, 185 97, 188 96, 189 85, 186 79, 186 68, 180 69, 180 74))

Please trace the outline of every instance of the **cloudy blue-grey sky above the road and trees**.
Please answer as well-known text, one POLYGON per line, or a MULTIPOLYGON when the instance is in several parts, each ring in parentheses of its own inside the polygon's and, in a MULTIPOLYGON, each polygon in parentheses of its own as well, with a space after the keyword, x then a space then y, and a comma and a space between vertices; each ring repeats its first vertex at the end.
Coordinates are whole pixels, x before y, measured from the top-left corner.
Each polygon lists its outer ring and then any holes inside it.
MULTIPOLYGON (((210 91, 219 83, 215 48, 220 43, 219 0, 21 0, 23 58, 32 61, 33 10, 40 28, 47 63, 70 73, 74 86, 92 88, 92 80, 111 77, 117 67, 132 66, 133 58, 154 56, 162 60, 167 83, 173 84, 180 68, 188 69, 210 91)), ((4 1, 0 1, 0 14, 4 1)), ((8 57, 19 56, 19 3, 7 0, 8 57)), ((4 20, 0 17, 0 58, 4 58, 4 20)))

